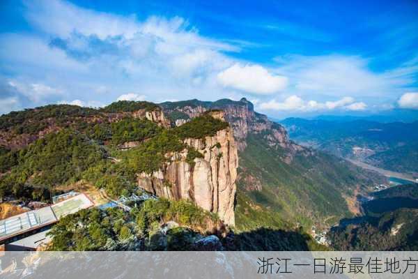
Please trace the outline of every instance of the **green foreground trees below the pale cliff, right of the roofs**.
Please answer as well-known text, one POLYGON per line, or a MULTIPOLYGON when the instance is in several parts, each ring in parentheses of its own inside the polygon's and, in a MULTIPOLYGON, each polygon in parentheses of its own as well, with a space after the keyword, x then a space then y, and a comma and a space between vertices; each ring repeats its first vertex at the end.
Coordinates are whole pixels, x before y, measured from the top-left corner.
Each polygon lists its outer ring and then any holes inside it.
POLYGON ((90 209, 65 216, 49 233, 49 250, 193 250, 220 225, 215 214, 192 202, 150 199, 130 212, 90 209), (162 233, 160 224, 167 221, 176 225, 162 233))

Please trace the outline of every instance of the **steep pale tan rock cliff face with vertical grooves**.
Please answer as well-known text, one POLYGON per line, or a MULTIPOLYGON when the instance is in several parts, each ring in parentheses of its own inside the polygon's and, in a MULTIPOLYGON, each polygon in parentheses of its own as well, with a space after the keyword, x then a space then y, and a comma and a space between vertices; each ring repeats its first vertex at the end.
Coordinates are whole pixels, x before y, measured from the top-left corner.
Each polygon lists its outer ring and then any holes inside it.
MULTIPOLYGON (((219 114, 222 117, 222 112, 219 114)), ((185 144, 198 151, 201 158, 188 159, 187 149, 166 154, 169 163, 152 174, 139 174, 138 185, 160 197, 192 200, 217 213, 224 223, 235 225, 238 152, 231 128, 205 139, 187 138, 185 144)))

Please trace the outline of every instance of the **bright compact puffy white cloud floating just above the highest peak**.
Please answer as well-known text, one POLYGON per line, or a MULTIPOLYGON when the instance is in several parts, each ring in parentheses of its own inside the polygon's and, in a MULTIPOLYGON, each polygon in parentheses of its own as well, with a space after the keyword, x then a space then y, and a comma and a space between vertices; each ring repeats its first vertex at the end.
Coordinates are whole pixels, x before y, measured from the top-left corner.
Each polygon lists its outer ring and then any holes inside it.
POLYGON ((288 84, 287 77, 272 75, 262 66, 241 66, 238 63, 219 73, 217 78, 223 86, 256 94, 275 93, 288 84))

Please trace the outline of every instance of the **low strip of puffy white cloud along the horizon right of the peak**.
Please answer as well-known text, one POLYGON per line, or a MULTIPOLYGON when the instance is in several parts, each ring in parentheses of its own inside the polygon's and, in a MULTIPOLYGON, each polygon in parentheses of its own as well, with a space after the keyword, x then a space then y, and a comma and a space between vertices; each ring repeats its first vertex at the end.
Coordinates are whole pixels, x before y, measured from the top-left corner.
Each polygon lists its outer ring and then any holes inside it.
POLYGON ((277 100, 270 100, 261 103, 259 107, 261 110, 277 110, 277 111, 295 111, 295 112, 315 112, 321 110, 336 110, 338 108, 343 110, 365 110, 366 104, 363 102, 354 103, 354 98, 344 97, 336 101, 327 101, 325 103, 317 102, 316 100, 303 100, 299 96, 292 95, 279 102, 277 100))

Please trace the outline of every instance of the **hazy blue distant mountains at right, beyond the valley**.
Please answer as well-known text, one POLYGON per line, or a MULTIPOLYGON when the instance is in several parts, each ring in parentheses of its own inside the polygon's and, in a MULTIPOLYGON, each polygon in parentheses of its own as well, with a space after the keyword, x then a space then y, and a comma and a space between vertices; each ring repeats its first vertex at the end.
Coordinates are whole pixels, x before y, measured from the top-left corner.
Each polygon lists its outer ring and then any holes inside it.
POLYGON ((300 144, 396 172, 418 172, 418 121, 328 119, 333 120, 288 118, 281 123, 300 144))

